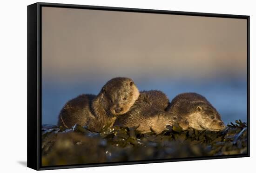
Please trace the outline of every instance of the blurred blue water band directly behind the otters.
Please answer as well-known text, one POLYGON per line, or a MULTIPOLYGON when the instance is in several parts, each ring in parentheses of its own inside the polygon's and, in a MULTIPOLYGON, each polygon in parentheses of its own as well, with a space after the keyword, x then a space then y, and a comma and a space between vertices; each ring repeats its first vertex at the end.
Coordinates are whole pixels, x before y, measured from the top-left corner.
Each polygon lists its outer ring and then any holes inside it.
MULTIPOLYGON (((244 78, 209 80, 134 78, 139 90, 162 90, 171 100, 182 92, 197 92, 205 96, 218 110, 225 124, 247 120, 247 82, 244 78)), ((56 124, 63 105, 82 94, 98 94, 106 79, 84 83, 43 83, 42 123, 56 124)))

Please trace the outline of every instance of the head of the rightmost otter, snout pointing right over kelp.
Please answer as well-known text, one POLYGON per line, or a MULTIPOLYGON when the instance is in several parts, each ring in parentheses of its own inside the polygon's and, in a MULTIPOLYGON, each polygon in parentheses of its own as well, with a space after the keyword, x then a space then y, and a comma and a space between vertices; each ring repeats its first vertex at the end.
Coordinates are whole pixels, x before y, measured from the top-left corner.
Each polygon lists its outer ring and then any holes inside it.
POLYGON ((220 114, 211 105, 198 105, 190 116, 189 126, 197 130, 220 131, 225 128, 220 114), (193 119, 193 120, 192 120, 193 119))

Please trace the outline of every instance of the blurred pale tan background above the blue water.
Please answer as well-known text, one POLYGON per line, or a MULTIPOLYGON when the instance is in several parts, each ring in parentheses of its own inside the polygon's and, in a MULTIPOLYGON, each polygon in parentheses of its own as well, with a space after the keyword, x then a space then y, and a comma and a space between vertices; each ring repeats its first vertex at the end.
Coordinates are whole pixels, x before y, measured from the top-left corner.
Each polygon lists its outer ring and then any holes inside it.
POLYGON ((42 7, 43 81, 244 75, 246 22, 42 7))

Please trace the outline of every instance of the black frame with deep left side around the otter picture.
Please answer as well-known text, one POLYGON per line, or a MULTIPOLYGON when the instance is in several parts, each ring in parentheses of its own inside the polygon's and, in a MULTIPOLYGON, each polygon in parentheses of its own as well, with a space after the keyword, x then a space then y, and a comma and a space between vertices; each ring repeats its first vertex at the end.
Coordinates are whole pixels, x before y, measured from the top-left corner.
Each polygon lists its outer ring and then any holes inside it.
POLYGON ((35 170, 48 169, 63 169, 63 168, 78 168, 78 167, 100 167, 100 166, 115 166, 115 165, 130 165, 142 163, 157 163, 157 162, 172 162, 172 161, 187 161, 187 160, 206 160, 206 159, 224 159, 249 157, 249 16, 246 15, 230 15, 230 14, 214 14, 214 13, 194 13, 194 12, 178 12, 166 10, 149 10, 136 8, 120 8, 107 6, 85 6, 73 4, 55 4, 55 3, 34 3, 27 6, 27 167, 35 170), (160 13, 160 14, 176 14, 189 16, 206 16, 217 18, 236 18, 247 20, 247 123, 248 123, 248 151, 247 154, 222 155, 222 156, 203 156, 194 158, 179 158, 179 159, 162 159, 162 160, 143 160, 143 161, 128 161, 128 162, 111 162, 111 163, 96 163, 82 165, 67 165, 67 166, 41 166, 41 8, 61 7, 61 8, 78 8, 78 9, 94 9, 107 11, 123 11, 123 12, 139 12, 139 13, 160 13))

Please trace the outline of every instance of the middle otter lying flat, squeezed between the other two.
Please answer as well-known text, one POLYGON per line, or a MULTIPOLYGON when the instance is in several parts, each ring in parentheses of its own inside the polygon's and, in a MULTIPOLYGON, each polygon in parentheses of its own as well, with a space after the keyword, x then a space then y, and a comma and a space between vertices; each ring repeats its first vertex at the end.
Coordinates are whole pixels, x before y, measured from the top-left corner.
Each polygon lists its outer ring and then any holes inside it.
POLYGON ((154 131, 160 134, 167 126, 179 123, 182 129, 189 127, 188 121, 165 111, 169 100, 161 91, 142 91, 130 111, 119 116, 114 126, 137 127, 141 133, 154 131))

